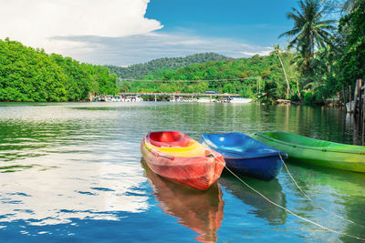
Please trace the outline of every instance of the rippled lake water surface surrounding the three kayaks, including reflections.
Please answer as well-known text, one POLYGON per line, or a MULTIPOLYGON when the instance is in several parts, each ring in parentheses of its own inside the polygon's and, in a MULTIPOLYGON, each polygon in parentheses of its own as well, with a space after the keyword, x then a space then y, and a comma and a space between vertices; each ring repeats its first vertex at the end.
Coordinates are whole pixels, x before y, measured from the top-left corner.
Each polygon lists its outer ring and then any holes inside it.
MULTIPOLYGON (((224 173, 206 192, 158 177, 141 159, 148 131, 190 137, 281 130, 360 144, 336 108, 257 104, 0 103, 1 242, 358 242, 271 205, 224 173)), ((288 165, 271 182, 242 177, 277 204, 365 238, 365 175, 288 165), (336 218, 348 218, 357 224, 336 218)))

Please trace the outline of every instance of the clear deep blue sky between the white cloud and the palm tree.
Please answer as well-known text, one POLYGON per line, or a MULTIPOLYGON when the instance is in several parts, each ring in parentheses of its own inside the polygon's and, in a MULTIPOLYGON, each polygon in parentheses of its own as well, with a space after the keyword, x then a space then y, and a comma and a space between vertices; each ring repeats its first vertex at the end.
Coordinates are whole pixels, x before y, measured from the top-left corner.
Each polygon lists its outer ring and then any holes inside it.
POLYGON ((285 44, 277 36, 292 27, 286 14, 293 0, 151 0, 146 17, 161 21, 163 33, 224 37, 245 44, 285 44))

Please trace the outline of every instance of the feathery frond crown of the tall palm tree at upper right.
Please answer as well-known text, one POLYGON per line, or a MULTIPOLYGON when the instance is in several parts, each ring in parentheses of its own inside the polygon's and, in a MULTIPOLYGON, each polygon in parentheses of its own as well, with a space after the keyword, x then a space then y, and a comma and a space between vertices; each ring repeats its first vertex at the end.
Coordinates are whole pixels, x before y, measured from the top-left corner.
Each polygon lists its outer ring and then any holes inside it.
POLYGON ((294 20, 293 29, 279 35, 294 37, 288 47, 297 47, 304 58, 305 70, 309 67, 310 58, 313 57, 315 48, 326 46, 330 43, 330 31, 336 29, 335 20, 321 20, 326 8, 321 7, 318 0, 300 0, 300 9, 292 8, 292 13, 287 13, 288 19, 294 20))

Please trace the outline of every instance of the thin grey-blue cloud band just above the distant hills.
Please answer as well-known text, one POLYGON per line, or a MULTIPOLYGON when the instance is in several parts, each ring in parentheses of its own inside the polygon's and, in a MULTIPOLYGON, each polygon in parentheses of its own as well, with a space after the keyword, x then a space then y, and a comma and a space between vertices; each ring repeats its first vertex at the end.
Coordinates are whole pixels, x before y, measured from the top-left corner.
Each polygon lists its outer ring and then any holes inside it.
POLYGON ((196 35, 158 34, 130 35, 124 37, 70 36, 55 37, 83 45, 65 50, 65 55, 99 65, 128 66, 161 57, 187 56, 202 52, 215 52, 231 57, 268 55, 271 47, 251 46, 228 38, 196 35), (88 50, 88 51, 87 51, 88 50))

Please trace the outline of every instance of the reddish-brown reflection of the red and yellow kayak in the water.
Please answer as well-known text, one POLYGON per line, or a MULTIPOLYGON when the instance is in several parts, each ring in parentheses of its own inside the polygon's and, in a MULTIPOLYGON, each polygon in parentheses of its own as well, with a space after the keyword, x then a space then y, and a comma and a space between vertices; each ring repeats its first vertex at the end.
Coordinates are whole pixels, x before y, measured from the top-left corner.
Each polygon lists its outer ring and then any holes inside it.
POLYGON ((158 176, 143 158, 141 165, 162 211, 179 218, 180 224, 198 233, 198 241, 215 242, 218 239, 216 231, 221 227, 224 215, 223 194, 217 183, 205 191, 199 191, 158 176))

